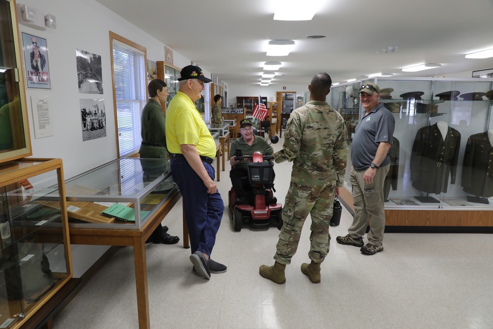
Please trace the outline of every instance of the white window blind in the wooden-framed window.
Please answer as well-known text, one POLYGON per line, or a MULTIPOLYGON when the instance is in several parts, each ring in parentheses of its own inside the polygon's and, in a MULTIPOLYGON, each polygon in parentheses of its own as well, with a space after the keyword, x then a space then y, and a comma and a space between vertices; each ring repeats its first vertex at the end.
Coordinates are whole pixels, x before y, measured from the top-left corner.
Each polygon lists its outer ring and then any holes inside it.
POLYGON ((145 54, 113 39, 116 119, 119 155, 125 156, 141 146, 141 112, 146 103, 145 54))

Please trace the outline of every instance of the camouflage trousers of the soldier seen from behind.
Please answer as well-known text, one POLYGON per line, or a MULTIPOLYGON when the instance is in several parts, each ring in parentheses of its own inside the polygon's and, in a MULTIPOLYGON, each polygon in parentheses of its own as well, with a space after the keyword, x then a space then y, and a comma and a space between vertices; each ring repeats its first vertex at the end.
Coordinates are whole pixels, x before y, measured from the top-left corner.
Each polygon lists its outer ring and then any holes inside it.
POLYGON ((310 214, 310 252, 308 257, 320 263, 329 252, 329 222, 334 204, 335 179, 318 186, 291 181, 282 210, 283 225, 279 233, 274 259, 281 264, 291 263, 296 254, 303 224, 310 214))

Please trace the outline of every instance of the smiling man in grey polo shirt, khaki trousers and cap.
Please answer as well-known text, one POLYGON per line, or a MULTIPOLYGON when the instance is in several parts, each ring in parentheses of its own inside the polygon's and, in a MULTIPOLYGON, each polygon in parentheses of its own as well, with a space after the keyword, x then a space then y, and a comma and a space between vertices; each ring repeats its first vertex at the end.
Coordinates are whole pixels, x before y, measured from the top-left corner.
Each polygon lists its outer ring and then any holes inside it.
POLYGON ((382 103, 379 104, 380 88, 375 83, 363 84, 359 94, 365 113, 356 126, 351 146, 354 219, 349 234, 338 236, 336 241, 361 247, 365 255, 374 255, 384 250, 384 181, 390 167, 395 119, 382 103), (368 214, 371 215, 370 232, 368 243, 364 245, 368 214))

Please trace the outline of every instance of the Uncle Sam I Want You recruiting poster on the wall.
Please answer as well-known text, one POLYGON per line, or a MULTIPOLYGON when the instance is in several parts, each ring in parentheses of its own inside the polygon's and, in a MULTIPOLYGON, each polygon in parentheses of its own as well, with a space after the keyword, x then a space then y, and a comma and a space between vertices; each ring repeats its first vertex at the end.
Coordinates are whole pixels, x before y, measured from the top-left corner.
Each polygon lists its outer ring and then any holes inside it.
POLYGON ((51 89, 46 39, 22 32, 27 88, 51 89))

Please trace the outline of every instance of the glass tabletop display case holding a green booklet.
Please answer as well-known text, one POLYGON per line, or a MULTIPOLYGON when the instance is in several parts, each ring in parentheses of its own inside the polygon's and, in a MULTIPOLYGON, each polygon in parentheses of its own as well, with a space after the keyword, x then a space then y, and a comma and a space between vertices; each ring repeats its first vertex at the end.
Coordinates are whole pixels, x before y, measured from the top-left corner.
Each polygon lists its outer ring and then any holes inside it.
POLYGON ((170 161, 120 158, 68 179, 69 226, 141 229, 178 192, 170 161))

